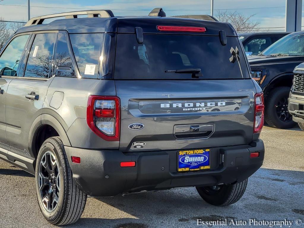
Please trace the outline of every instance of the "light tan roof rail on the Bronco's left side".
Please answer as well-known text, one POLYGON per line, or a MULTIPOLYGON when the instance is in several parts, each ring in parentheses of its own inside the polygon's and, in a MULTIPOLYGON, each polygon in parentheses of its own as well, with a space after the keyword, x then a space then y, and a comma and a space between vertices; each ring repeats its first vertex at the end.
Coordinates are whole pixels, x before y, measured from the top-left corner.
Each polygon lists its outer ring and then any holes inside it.
POLYGON ((99 10, 84 10, 84 11, 74 11, 65 13, 56 13, 50 15, 44 15, 39 17, 31 18, 24 26, 30 25, 40 25, 45 19, 65 17, 66 19, 77 18, 78 15, 88 15, 88 17, 114 17, 114 14, 109 9, 99 9, 99 10))

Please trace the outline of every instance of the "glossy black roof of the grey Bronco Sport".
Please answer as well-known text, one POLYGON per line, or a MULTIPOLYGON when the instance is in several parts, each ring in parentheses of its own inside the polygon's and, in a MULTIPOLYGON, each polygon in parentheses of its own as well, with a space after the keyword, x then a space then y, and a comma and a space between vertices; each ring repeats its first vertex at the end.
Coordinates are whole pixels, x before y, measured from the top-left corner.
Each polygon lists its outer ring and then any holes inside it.
MULTIPOLYGON (((59 14, 58 14, 59 15, 59 14)), ((46 17, 46 16, 42 16, 46 17)), ((55 19, 54 21, 43 24, 42 17, 31 19, 25 27, 16 33, 24 33, 42 30, 67 30, 68 33, 135 33, 135 27, 141 27, 143 33, 181 33, 181 32, 160 32, 157 25, 162 26, 198 26, 206 27, 204 35, 219 35, 220 30, 224 30, 227 36, 237 36, 234 28, 229 23, 216 22, 201 19, 186 19, 177 17, 160 16, 140 16, 140 17, 84 17, 55 19), (42 24, 38 24, 41 20, 42 24)), ((50 15, 49 18, 54 18, 50 15)), ((199 34, 192 32, 193 34, 199 34)), ((187 34, 192 34, 187 32, 187 34)))

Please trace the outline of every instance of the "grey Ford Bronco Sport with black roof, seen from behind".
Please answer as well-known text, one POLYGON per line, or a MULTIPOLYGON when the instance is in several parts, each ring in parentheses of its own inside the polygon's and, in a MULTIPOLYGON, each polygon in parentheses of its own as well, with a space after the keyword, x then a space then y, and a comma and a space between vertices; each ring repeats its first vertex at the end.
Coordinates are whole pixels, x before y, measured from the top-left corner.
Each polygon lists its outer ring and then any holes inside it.
POLYGON ((35 175, 52 224, 77 221, 87 195, 195 186, 229 205, 263 163, 263 93, 229 23, 161 8, 40 16, 0 75, 0 157, 35 175))

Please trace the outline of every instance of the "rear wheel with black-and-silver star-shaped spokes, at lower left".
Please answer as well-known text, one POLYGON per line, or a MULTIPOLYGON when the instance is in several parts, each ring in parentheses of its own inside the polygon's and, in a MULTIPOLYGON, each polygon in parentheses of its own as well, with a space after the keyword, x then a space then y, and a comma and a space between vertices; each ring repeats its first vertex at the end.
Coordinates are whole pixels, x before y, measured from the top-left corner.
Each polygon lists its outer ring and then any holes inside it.
POLYGON ((40 147, 35 179, 39 207, 48 222, 67 225, 80 218, 87 195, 75 185, 59 137, 48 138, 40 147))

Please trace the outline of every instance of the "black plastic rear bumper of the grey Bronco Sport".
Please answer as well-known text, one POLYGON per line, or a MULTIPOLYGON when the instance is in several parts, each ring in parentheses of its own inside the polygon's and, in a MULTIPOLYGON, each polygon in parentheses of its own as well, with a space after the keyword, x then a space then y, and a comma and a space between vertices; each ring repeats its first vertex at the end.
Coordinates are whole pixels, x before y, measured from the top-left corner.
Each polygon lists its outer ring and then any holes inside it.
POLYGON ((124 154, 118 150, 65 147, 78 188, 95 197, 143 190, 236 183, 254 174, 264 160, 262 140, 254 141, 250 145, 210 149, 210 170, 178 173, 177 150, 124 154), (250 158, 250 153, 253 152, 259 152, 260 156, 250 158), (81 164, 72 163, 71 156, 81 157, 81 164), (122 161, 135 161, 136 166, 122 168, 122 161))

